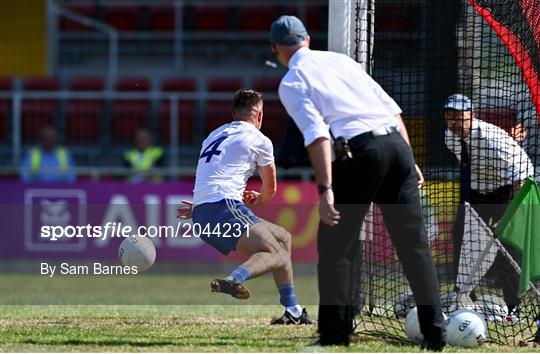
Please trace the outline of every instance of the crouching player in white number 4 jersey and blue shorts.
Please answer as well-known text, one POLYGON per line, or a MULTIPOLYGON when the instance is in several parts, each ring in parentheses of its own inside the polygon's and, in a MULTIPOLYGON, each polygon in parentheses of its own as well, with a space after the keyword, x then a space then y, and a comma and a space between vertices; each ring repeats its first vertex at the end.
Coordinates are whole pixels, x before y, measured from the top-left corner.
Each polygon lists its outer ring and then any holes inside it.
POLYGON ((224 255, 239 251, 249 257, 227 278, 214 279, 213 292, 247 299, 251 293, 243 283, 272 272, 285 307, 272 324, 312 324, 294 290, 291 234, 249 209, 272 198, 277 186, 272 142, 260 132, 262 118, 262 95, 239 90, 234 96, 233 121, 204 140, 193 191, 193 230, 201 230, 202 240, 224 255), (262 187, 246 191, 256 169, 262 187))

